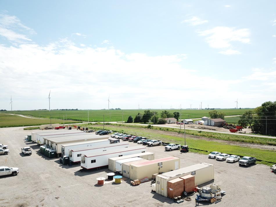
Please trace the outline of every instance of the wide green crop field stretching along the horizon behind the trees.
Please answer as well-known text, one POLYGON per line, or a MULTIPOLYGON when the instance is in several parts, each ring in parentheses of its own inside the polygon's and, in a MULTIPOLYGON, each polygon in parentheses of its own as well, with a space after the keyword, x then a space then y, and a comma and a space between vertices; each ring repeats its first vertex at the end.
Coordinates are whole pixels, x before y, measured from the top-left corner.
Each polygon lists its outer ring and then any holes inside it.
MULTIPOLYGON (((140 113, 144 113, 145 109, 128 109, 128 110, 89 110, 89 121, 103 121, 103 117, 105 121, 127 121, 128 116, 135 116, 140 113)), ((149 109, 150 111, 157 111, 158 115, 163 110, 170 111, 173 113, 174 111, 179 111, 180 109, 149 109)), ((246 110, 249 109, 216 109, 217 111, 223 111, 226 116, 231 115, 240 115, 243 114, 246 110)), ((203 116, 209 116, 208 112, 211 110, 193 110, 193 109, 182 109, 181 110, 181 118, 201 118, 203 116)), ((7 111, 7 113, 11 113, 11 111, 7 111)), ((88 110, 74 110, 74 111, 61 111, 61 110, 52 110, 51 115, 48 110, 35 110, 35 111, 12 111, 13 114, 22 114, 24 116, 32 116, 39 118, 56 118, 62 119, 63 116, 65 120, 79 120, 79 121, 88 121, 88 110)))

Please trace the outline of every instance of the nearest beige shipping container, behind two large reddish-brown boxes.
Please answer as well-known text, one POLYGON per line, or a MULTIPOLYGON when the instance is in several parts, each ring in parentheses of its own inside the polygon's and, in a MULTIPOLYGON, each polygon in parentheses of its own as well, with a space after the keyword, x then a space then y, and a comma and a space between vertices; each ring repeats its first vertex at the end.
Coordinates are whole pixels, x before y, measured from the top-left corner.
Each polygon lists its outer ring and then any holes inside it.
POLYGON ((156 192, 167 197, 167 182, 185 175, 193 175, 195 177, 195 185, 201 185, 214 179, 214 165, 199 163, 157 175, 155 177, 156 192))

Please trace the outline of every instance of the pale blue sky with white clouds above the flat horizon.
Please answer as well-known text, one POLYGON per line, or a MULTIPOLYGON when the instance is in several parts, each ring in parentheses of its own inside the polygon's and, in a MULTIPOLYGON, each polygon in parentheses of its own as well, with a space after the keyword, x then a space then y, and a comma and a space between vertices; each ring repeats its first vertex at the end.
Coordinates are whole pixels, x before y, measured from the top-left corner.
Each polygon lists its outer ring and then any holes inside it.
POLYGON ((0 109, 275 101, 276 1, 0 1, 0 109))

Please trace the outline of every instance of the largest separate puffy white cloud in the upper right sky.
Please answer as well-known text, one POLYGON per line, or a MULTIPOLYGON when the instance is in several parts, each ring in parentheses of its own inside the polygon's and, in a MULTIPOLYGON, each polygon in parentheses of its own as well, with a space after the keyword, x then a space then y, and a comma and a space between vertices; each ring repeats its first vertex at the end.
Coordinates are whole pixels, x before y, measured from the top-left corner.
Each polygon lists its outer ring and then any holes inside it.
POLYGON ((220 53, 229 55, 240 54, 239 51, 233 50, 232 42, 241 42, 243 44, 250 43, 249 29, 236 29, 230 27, 215 27, 213 29, 198 32, 200 36, 206 36, 205 40, 212 48, 227 49, 228 52, 220 53))

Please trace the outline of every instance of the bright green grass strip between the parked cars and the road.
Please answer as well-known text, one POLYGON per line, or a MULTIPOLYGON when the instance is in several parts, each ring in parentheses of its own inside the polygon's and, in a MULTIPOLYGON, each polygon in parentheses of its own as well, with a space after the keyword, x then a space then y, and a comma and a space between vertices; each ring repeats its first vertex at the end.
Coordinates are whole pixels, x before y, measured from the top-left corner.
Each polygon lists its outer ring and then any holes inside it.
MULTIPOLYGON (((141 130, 139 128, 121 127, 121 126, 114 126, 114 125, 105 125, 105 129, 121 132, 124 134, 132 134, 137 136, 144 136, 151 139, 158 139, 158 140, 162 140, 163 142, 173 142, 173 143, 179 143, 181 145, 184 144, 184 135, 183 137, 176 137, 176 136, 169 136, 165 134, 157 134, 152 131, 150 132, 147 130, 141 130)), ((223 152, 227 154, 236 154, 239 156, 256 157, 257 159, 263 161, 263 162, 259 161, 259 163, 264 163, 268 165, 271 165, 271 163, 276 163, 275 151, 240 147, 236 145, 227 145, 225 143, 219 143, 216 141, 206 141, 206 140, 192 139, 192 138, 186 138, 186 144, 189 145, 190 148, 192 148, 191 151, 193 152, 199 152, 198 150, 200 150, 200 153, 209 154, 208 152, 218 151, 218 152, 223 152), (202 150, 207 152, 202 152, 202 150), (266 163, 266 162, 270 162, 270 163, 266 163)))

